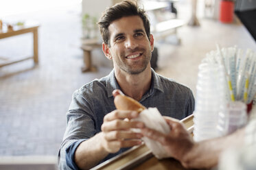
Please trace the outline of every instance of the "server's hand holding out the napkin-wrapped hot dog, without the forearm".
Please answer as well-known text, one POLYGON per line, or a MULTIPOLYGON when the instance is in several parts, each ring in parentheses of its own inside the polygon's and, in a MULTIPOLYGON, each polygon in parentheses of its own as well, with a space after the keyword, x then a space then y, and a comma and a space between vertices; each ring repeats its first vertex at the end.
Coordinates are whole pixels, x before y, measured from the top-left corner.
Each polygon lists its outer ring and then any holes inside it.
POLYGON ((141 133, 155 141, 158 141, 165 147, 170 157, 178 160, 183 160, 187 151, 194 145, 189 132, 185 129, 182 123, 170 117, 164 117, 167 124, 170 126, 169 134, 162 134, 155 130, 143 128, 141 133))

